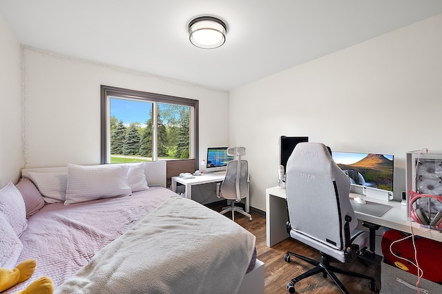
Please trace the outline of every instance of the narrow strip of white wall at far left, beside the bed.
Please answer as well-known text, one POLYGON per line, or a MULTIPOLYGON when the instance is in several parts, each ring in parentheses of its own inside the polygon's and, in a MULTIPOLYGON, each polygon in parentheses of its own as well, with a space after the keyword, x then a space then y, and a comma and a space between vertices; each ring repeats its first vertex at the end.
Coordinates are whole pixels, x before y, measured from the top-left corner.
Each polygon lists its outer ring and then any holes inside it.
POLYGON ((0 14, 0 188, 17 182, 21 148, 20 46, 0 14))

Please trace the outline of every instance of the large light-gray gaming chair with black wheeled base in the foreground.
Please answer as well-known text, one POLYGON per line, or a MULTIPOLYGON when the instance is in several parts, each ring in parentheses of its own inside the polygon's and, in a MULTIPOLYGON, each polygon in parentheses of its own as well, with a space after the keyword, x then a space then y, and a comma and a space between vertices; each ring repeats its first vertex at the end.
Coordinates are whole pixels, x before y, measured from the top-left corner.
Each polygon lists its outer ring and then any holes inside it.
POLYGON ((330 265, 332 258, 352 262, 369 240, 366 231, 356 229, 358 220, 349 200, 349 178, 333 161, 327 147, 321 143, 298 143, 287 162, 286 184, 287 231, 291 238, 317 249, 321 255, 316 261, 290 251, 285 254, 286 262, 294 256, 316 266, 292 279, 287 290, 294 293, 296 282, 323 273, 343 293, 349 293, 335 275, 341 273, 367 279, 369 289, 377 291, 373 277, 330 265))

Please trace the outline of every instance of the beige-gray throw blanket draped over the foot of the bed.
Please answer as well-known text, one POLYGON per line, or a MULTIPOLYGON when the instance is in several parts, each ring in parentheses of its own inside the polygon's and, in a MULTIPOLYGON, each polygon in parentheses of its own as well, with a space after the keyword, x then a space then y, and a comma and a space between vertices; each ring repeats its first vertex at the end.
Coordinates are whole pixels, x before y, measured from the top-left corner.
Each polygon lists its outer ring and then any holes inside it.
POLYGON ((255 241, 225 216, 172 196, 55 293, 237 293, 255 241))

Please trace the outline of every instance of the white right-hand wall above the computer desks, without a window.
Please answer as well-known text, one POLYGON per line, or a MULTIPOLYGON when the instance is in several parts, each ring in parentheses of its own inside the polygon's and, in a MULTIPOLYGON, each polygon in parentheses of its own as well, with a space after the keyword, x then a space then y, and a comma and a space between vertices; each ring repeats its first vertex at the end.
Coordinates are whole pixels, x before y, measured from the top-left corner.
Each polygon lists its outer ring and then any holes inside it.
MULTIPOLYGON (((278 183, 278 137, 309 136, 334 151, 442 150, 442 14, 230 92, 230 143, 247 147, 251 206, 278 183)), ((296 54, 296 52, 294 52, 296 54)))

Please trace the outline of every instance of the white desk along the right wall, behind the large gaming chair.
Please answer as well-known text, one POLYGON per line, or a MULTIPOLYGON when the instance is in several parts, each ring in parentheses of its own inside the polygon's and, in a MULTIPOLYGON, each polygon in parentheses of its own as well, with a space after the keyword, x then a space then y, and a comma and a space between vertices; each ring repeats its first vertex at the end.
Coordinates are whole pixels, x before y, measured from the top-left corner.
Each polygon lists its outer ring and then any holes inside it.
MULTIPOLYGON (((289 238, 285 226, 288 220, 287 202, 285 198, 285 189, 279 189, 278 187, 266 189, 266 233, 267 246, 269 247, 289 238)), ((353 202, 353 200, 351 201, 353 202)), ((375 199, 369 199, 369 201, 388 204, 392 206, 392 208, 380 217, 355 211, 358 220, 411 233, 410 220, 407 220, 407 207, 405 207, 405 205, 397 201, 386 202, 375 199)), ((411 225, 415 234, 420 234, 425 238, 442 242, 442 233, 439 233, 439 231, 425 229, 416 222, 411 222, 411 225)))

